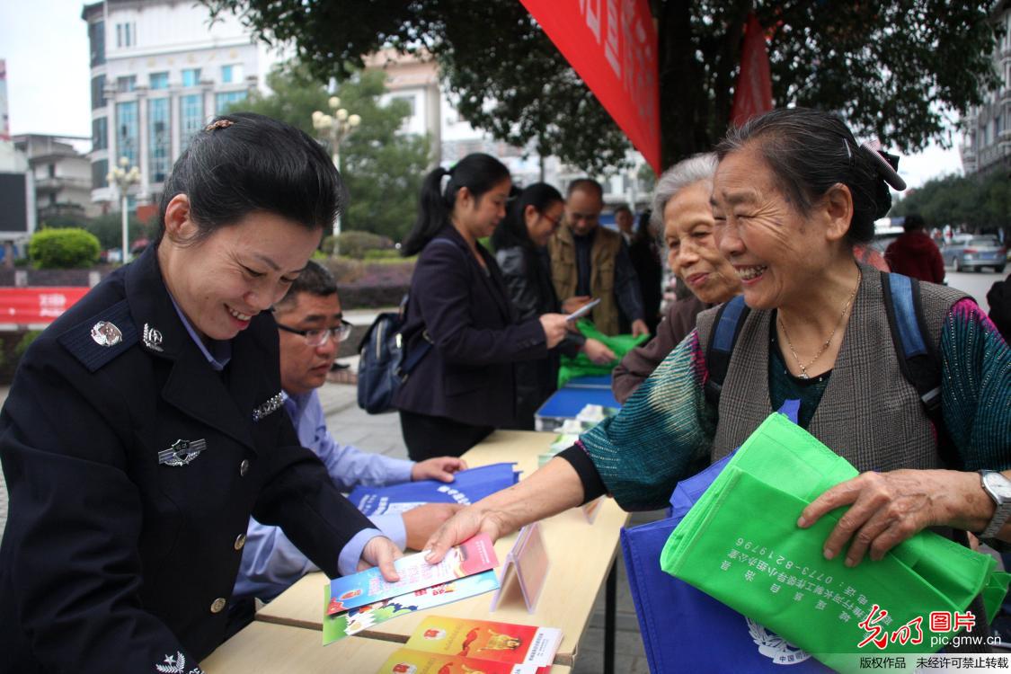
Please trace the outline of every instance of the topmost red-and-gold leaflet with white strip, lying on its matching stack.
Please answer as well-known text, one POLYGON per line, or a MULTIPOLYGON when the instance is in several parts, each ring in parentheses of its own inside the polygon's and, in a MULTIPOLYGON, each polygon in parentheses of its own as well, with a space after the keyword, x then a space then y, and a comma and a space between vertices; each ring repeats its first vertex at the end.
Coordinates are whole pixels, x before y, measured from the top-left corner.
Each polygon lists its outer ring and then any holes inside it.
POLYGON ((444 615, 426 617, 404 648, 439 655, 550 667, 562 643, 557 628, 444 615))

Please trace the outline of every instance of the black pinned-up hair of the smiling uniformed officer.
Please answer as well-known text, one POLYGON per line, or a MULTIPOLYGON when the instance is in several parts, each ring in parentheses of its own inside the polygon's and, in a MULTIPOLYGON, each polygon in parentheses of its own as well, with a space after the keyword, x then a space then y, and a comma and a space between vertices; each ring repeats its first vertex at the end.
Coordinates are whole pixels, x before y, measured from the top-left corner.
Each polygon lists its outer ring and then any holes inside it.
POLYGON ((251 112, 215 117, 191 138, 165 181, 157 242, 173 197, 189 197, 196 243, 249 213, 328 228, 343 208, 344 183, 318 142, 284 122, 251 112))

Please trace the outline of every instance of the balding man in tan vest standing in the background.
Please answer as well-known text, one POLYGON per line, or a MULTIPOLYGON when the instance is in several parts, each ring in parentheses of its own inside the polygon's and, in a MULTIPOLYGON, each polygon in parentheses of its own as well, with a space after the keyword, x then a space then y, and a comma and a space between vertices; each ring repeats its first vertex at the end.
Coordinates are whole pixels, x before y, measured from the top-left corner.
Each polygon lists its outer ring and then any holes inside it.
POLYGON ((591 316, 605 334, 618 334, 620 315, 631 324, 632 334, 648 334, 628 246, 619 232, 600 226, 602 210, 604 188, 599 182, 580 178, 569 184, 562 225, 548 243, 555 292, 583 303, 600 299, 591 316))

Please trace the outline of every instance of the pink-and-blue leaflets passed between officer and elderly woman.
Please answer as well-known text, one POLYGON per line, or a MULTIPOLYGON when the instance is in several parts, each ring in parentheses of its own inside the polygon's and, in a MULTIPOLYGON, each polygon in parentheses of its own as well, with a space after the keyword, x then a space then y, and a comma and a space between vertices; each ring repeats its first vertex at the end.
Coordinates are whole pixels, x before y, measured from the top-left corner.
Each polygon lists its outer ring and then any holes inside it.
POLYGON ((429 564, 425 553, 418 553, 401 557, 394 566, 400 576, 395 583, 372 568, 335 578, 324 587, 324 645, 400 615, 498 589, 492 570, 498 558, 486 534, 451 548, 439 564, 429 564))

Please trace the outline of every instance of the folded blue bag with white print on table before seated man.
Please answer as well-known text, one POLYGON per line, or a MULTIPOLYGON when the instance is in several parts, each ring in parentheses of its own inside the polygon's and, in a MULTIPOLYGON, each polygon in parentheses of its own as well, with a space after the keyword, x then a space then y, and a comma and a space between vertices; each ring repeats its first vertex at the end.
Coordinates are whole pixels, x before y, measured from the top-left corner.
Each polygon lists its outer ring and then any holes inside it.
POLYGON ((470 505, 496 491, 512 487, 520 479, 516 464, 500 463, 456 473, 452 482, 418 480, 385 487, 358 486, 348 496, 366 515, 403 512, 423 503, 470 505))

